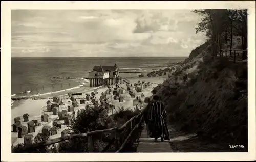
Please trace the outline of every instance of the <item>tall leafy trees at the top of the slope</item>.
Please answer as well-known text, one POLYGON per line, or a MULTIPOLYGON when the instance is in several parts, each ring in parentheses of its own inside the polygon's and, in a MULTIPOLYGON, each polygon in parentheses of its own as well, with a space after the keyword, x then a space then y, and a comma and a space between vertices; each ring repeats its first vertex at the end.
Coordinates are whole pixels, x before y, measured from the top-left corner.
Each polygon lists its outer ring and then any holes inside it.
MULTIPOLYGON (((247 49, 247 9, 205 9, 194 12, 204 17, 198 23, 196 33, 205 33, 211 43, 213 56, 217 56, 224 44, 231 50, 234 36, 241 37, 242 49, 247 49)), ((242 57, 246 59, 246 51, 243 52, 242 57)))

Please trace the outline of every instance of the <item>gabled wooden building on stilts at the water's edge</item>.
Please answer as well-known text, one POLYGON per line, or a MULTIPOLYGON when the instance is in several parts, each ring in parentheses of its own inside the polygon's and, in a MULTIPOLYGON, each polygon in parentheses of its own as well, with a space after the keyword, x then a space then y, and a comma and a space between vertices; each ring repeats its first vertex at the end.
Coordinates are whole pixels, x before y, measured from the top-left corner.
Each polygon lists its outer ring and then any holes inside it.
POLYGON ((89 72, 90 87, 107 86, 117 84, 120 81, 119 68, 114 66, 94 66, 89 72))

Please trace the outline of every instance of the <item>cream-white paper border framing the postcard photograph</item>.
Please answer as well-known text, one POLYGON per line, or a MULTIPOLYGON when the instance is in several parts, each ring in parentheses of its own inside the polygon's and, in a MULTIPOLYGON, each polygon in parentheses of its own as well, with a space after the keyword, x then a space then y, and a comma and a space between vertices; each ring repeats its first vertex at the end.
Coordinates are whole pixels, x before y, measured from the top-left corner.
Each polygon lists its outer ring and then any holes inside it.
POLYGON ((255 160, 255 1, 1 2, 1 161, 197 161, 255 160), (248 8, 248 153, 11 153, 12 9, 214 9, 248 8))

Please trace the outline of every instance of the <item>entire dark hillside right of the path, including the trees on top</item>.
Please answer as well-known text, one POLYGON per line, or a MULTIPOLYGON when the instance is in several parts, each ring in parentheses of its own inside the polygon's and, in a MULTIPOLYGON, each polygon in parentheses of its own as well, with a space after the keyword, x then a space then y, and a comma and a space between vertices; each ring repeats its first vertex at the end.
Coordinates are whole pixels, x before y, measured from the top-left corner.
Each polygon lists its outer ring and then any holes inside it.
MULTIPOLYGON (((220 49, 247 49, 247 11, 194 12, 203 16, 196 32, 204 32, 207 40, 155 90, 177 130, 197 133, 200 139, 223 148, 233 143, 247 145, 247 64, 217 57, 220 49)), ((243 52, 243 59, 246 56, 243 52)))

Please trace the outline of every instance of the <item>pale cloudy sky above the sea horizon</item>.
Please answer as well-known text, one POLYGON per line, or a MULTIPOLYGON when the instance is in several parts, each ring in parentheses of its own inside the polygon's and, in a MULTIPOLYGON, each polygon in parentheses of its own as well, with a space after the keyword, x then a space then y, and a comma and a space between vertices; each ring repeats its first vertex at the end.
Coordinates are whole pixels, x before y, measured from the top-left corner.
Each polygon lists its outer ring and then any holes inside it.
POLYGON ((12 57, 188 56, 191 10, 12 10, 12 57))

